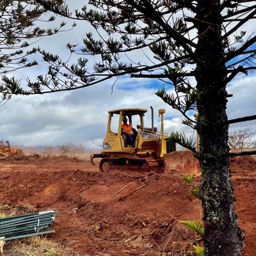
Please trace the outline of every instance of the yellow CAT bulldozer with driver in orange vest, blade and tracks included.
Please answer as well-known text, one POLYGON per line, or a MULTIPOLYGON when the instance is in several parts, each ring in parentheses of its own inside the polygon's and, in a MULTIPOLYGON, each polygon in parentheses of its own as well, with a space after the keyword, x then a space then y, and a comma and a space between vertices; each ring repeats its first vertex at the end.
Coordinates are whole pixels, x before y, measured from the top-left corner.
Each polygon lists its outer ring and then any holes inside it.
POLYGON ((151 127, 145 127, 143 108, 122 108, 108 111, 106 137, 102 143, 102 151, 91 154, 91 163, 100 158, 99 170, 137 169, 142 172, 164 172, 179 170, 184 174, 200 173, 197 159, 191 151, 176 151, 176 143, 168 140, 164 132, 164 109, 159 109, 161 129, 154 127, 154 110, 151 107, 151 127), (124 132, 124 121, 132 127, 132 140, 124 132), (137 129, 133 124, 136 124, 137 129))

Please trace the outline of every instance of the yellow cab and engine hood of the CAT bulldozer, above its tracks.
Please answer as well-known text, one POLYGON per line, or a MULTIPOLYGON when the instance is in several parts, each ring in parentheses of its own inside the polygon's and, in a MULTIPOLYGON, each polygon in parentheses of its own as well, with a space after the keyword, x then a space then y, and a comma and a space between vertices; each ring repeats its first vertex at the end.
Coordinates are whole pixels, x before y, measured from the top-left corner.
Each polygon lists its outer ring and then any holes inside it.
POLYGON ((136 154, 159 157, 162 150, 161 135, 156 127, 144 126, 143 108, 123 108, 108 111, 108 125, 106 137, 102 143, 102 154, 124 156, 136 154), (132 135, 123 132, 123 118, 132 126, 132 135))

